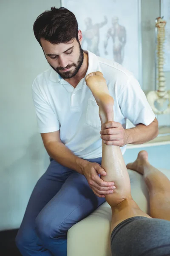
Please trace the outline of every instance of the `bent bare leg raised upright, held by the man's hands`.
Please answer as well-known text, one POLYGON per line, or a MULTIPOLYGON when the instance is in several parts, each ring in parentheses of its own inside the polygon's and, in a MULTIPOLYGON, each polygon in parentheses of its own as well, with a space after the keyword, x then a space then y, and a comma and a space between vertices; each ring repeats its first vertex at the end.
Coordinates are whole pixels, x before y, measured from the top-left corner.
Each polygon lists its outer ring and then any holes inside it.
MULTIPOLYGON (((102 126, 113 121, 113 98, 101 72, 90 73, 85 78, 86 84, 93 93, 99 106, 99 116, 102 126)), ((116 189, 105 198, 112 209, 111 232, 120 222, 133 216, 151 218, 133 201, 130 192, 130 179, 119 146, 106 145, 102 141, 102 167, 107 175, 101 177, 105 181, 114 181, 116 189)))

